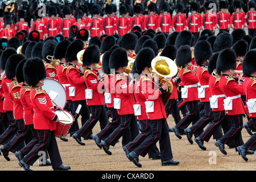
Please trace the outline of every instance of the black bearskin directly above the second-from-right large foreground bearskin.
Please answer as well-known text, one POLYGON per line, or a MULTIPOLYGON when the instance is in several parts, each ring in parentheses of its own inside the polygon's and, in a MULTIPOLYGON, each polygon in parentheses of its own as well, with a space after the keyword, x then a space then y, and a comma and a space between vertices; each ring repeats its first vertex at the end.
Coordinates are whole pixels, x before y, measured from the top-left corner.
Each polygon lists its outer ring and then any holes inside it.
POLYGON ((233 38, 228 32, 217 35, 213 44, 213 52, 219 52, 225 48, 232 47, 233 38))

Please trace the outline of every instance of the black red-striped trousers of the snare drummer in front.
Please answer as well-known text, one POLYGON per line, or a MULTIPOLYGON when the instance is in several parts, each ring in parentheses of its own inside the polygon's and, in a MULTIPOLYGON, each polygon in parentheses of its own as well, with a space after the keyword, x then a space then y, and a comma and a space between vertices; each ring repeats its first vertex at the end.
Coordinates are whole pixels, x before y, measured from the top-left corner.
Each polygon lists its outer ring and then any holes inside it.
POLYGON ((22 159, 22 161, 32 166, 39 158, 43 161, 47 159, 46 150, 49 155, 49 159, 52 163, 52 168, 57 168, 63 164, 59 148, 57 146, 56 137, 54 131, 50 130, 36 130, 38 133, 39 141, 32 150, 22 159))

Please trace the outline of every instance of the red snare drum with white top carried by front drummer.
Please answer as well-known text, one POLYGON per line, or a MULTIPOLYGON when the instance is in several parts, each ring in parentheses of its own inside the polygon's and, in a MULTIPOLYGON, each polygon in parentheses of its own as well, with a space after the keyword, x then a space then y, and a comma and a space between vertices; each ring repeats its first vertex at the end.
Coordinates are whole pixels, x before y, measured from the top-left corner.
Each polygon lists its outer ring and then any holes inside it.
POLYGON ((66 110, 56 110, 55 114, 59 118, 57 122, 56 130, 54 131, 56 137, 65 137, 74 122, 73 115, 66 110))

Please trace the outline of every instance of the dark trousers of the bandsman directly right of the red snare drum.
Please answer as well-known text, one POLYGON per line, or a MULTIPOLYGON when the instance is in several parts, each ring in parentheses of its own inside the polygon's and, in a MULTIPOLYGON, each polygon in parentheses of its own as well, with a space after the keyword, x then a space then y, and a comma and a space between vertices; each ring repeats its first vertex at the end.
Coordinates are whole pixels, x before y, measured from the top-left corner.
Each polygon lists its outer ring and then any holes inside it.
POLYGON ((72 115, 74 117, 74 122, 71 125, 69 129, 69 133, 75 133, 79 130, 79 123, 77 122, 77 119, 81 115, 81 124, 84 125, 84 123, 90 118, 90 111, 86 104, 86 100, 81 101, 72 101, 73 102, 73 109, 72 109, 72 115), (81 104, 81 109, 79 113, 76 113, 77 107, 81 104))

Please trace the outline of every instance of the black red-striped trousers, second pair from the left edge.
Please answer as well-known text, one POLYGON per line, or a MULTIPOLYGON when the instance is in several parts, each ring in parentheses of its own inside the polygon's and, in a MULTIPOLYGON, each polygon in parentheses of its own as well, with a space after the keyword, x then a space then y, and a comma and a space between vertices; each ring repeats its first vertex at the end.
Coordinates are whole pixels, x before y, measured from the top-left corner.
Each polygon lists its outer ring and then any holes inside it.
POLYGON ((29 131, 23 119, 17 119, 16 123, 18 126, 18 131, 16 132, 14 137, 3 146, 6 150, 13 153, 24 147, 24 139, 26 138, 29 131))

